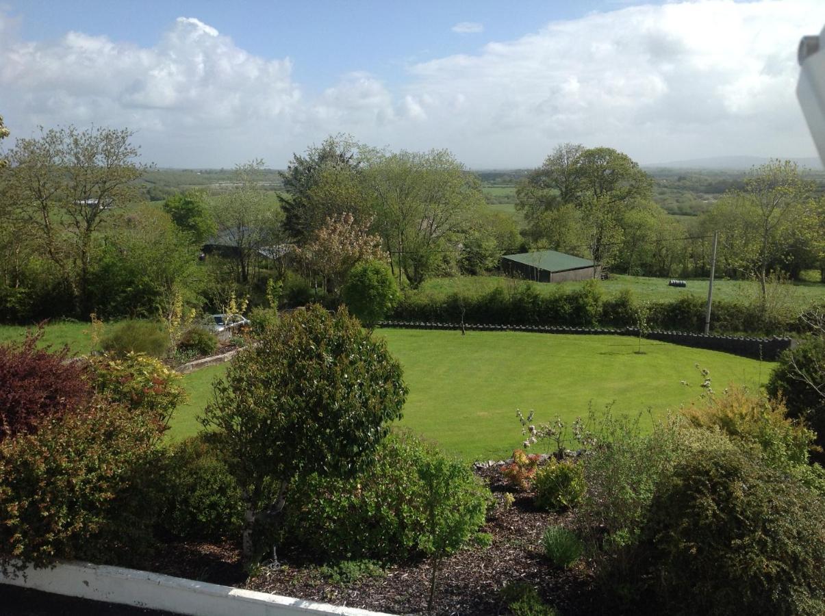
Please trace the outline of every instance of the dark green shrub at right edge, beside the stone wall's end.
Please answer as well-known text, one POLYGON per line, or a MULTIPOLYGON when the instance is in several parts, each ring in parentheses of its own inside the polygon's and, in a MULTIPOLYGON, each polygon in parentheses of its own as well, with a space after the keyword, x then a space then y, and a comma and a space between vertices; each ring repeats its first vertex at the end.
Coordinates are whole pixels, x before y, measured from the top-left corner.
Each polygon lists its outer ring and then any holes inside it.
MULTIPOLYGON (((825 339, 813 338, 786 350, 768 380, 771 397, 782 397, 788 414, 804 420, 825 448, 825 339)), ((825 457, 820 454, 820 459, 825 457)))

